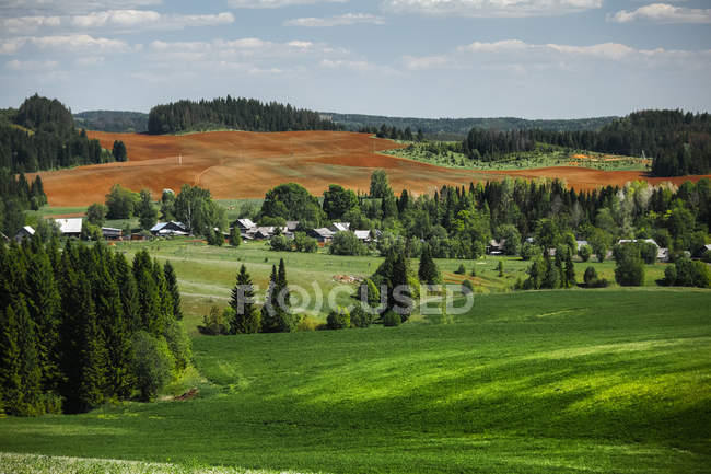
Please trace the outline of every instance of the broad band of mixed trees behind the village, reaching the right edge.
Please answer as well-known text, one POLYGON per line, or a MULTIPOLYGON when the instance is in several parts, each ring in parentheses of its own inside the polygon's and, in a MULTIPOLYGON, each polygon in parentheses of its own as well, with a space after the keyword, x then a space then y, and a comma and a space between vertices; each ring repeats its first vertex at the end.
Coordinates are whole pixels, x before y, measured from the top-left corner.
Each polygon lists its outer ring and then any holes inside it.
MULTIPOLYGON (((598 251, 619 239, 654 239, 673 252, 695 253, 711 228, 711 182, 686 182, 678 188, 636 182, 576 192, 560 180, 506 178, 442 186, 416 197, 407 190, 395 196, 378 170, 366 194, 331 185, 319 200, 298 184, 279 185, 267 193, 255 218, 269 226, 298 220, 310 229, 343 221, 353 230, 377 230, 381 235, 369 251, 383 255, 401 239, 412 240, 413 255, 426 242, 435 257, 477 258, 491 239, 505 239, 504 252, 521 255, 531 252, 527 238, 539 250, 576 239, 598 243, 598 251)), ((361 253, 360 246, 348 245, 352 239, 336 239, 338 253, 351 247, 361 253)))

